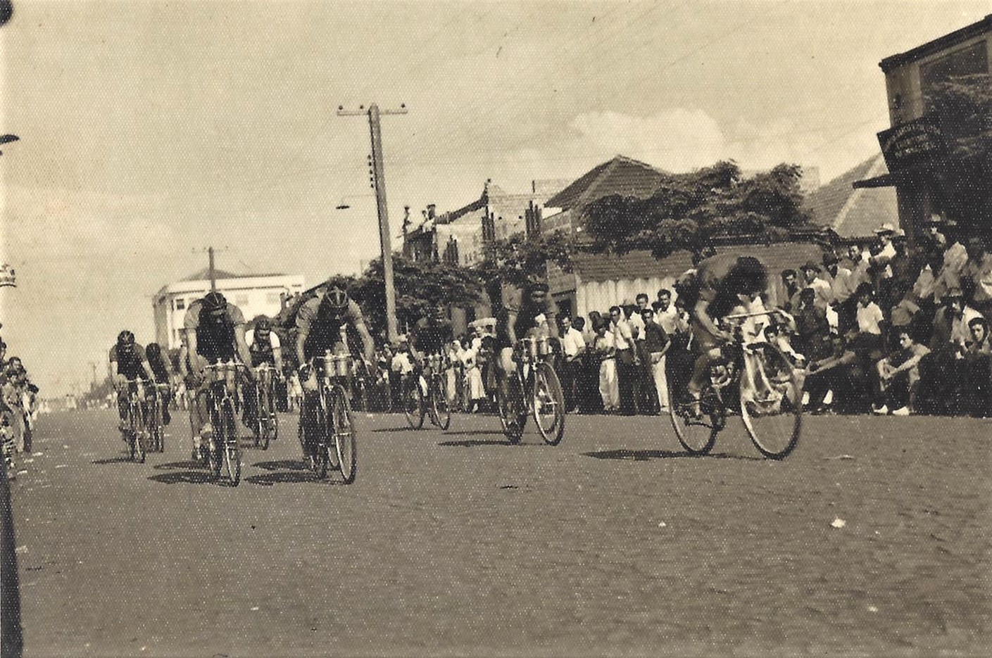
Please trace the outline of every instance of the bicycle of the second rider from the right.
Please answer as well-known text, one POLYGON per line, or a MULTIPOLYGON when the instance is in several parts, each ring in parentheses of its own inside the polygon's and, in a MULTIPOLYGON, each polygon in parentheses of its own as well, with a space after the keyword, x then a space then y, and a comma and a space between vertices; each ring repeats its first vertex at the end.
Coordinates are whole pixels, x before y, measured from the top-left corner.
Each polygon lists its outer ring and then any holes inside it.
POLYGON ((557 446, 564 436, 564 392, 552 365, 554 354, 547 337, 522 338, 514 347, 514 368, 507 375, 508 399, 497 386, 496 406, 510 443, 520 443, 527 416, 545 443, 557 446))

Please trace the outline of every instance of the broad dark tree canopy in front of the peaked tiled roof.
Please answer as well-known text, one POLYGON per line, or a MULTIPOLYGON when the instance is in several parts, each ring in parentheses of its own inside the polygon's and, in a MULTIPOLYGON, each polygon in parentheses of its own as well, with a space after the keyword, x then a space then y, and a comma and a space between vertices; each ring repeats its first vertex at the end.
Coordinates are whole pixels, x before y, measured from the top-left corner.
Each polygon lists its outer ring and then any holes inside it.
POLYGON ((798 164, 779 164, 743 178, 736 163, 720 162, 671 175, 647 199, 607 196, 583 216, 595 251, 651 250, 661 258, 674 251, 698 251, 723 236, 784 239, 808 223, 802 209, 798 164))

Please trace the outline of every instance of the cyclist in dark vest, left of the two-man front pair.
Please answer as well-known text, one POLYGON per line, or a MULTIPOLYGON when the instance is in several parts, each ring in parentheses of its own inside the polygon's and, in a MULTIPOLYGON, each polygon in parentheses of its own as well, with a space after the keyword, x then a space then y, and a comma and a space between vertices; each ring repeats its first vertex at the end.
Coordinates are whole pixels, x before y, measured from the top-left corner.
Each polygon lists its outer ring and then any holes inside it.
MULTIPOLYGON (((250 365, 251 354, 245 343, 245 318, 241 309, 228 303, 219 292, 210 292, 192 302, 186 310, 183 326, 189 365, 192 367, 189 377, 189 382, 193 384, 189 426, 192 428, 192 457, 195 460, 200 457, 201 442, 209 444, 213 438, 204 369, 208 364, 228 361, 250 365)), ((244 370, 244 374, 254 380, 250 367, 244 370)))

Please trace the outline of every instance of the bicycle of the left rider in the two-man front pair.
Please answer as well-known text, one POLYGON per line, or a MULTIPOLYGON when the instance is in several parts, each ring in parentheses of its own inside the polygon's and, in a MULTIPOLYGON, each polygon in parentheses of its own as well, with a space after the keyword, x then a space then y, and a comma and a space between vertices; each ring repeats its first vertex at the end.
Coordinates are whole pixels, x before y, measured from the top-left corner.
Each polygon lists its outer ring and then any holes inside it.
POLYGON ((235 400, 240 389, 238 371, 244 364, 218 362, 206 367, 210 382, 207 387, 207 408, 213 425, 211 444, 207 446, 207 467, 213 479, 219 481, 223 472, 228 484, 241 482, 241 444, 238 440, 235 400))

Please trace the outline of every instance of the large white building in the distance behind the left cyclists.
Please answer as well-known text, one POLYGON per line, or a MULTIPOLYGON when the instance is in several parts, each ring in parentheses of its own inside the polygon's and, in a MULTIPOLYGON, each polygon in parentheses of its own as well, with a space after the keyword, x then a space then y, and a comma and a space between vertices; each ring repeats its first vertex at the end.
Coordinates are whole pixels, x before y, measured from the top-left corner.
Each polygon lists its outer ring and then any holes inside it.
MULTIPOLYGON (((227 301, 241 309, 246 321, 258 315, 275 316, 283 308, 287 296, 304 289, 302 274, 230 274, 214 271, 217 290, 227 301)), ((170 350, 181 343, 183 322, 189 305, 210 291, 206 270, 169 283, 155 294, 155 340, 170 350)))

